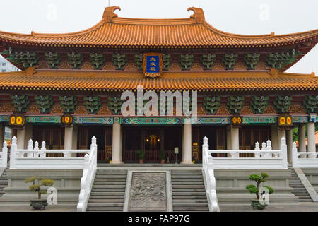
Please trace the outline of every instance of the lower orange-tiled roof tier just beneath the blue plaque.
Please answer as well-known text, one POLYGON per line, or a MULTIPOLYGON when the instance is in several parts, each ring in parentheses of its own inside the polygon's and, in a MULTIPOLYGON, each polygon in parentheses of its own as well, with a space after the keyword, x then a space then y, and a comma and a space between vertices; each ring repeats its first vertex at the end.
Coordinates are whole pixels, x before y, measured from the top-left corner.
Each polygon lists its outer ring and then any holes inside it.
POLYGON ((318 76, 267 71, 166 72, 146 78, 134 71, 36 70, 0 73, 2 90, 105 92, 136 90, 280 91, 318 90, 318 76))

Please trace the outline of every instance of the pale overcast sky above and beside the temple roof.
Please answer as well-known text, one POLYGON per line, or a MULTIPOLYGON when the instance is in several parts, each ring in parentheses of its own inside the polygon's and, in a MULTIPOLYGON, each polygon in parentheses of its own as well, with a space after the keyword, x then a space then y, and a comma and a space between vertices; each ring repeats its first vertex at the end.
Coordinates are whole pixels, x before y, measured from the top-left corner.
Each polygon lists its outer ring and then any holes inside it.
MULTIPOLYGON (((120 17, 188 18, 199 0, 110 0, 120 17)), ((0 30, 76 32, 102 19, 108 0, 1 0, 0 30)), ((200 0, 206 21, 237 34, 286 34, 318 29, 318 0, 200 0)), ((318 46, 288 70, 318 75, 318 46)))

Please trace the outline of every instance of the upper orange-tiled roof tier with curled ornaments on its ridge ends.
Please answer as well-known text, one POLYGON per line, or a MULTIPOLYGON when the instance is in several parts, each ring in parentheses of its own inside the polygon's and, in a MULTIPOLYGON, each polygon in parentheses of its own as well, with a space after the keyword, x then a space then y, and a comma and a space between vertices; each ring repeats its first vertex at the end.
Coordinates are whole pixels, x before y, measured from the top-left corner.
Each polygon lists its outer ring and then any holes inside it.
POLYGON ((117 6, 105 8, 102 20, 92 28, 66 34, 23 35, 0 32, 0 45, 22 44, 40 47, 141 47, 141 48, 254 48, 283 47, 291 44, 310 45, 318 42, 318 30, 290 35, 235 35, 213 28, 204 18, 201 8, 190 18, 182 19, 136 19, 119 18, 114 13, 117 6))

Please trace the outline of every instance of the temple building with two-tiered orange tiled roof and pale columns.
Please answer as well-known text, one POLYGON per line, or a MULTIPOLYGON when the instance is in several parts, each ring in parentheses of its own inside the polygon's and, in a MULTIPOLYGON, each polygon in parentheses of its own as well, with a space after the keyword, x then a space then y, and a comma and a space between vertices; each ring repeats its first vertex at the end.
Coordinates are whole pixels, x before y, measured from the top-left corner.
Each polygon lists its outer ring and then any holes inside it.
POLYGON ((201 8, 180 19, 121 18, 115 10, 105 8, 80 32, 0 32, 0 54, 21 70, 0 73, 1 141, 5 126, 18 149, 29 139, 47 149, 89 149, 95 136, 98 162, 137 163, 142 150, 145 163, 164 156, 192 164, 202 160, 204 136, 212 150, 254 150, 269 139, 278 150, 284 136, 290 160, 298 127, 299 151, 306 129, 307 151, 316 151, 318 76, 285 71, 317 44, 318 30, 235 35, 213 28, 201 8), (190 91, 189 105, 196 91, 197 120, 124 116, 122 93, 140 85, 158 96, 190 91))

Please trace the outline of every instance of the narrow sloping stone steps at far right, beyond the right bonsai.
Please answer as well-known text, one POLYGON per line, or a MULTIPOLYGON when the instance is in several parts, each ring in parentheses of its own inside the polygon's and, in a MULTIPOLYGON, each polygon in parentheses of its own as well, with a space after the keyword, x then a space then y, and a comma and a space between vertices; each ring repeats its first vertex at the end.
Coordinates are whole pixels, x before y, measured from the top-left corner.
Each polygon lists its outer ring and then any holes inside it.
POLYGON ((288 165, 288 168, 291 170, 291 177, 289 179, 289 186, 293 188, 293 194, 298 197, 299 202, 312 202, 312 198, 308 194, 305 186, 302 184, 300 179, 298 178, 293 167, 288 165))

